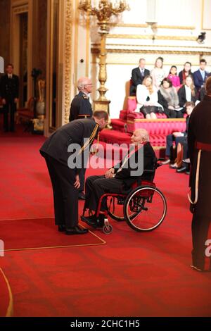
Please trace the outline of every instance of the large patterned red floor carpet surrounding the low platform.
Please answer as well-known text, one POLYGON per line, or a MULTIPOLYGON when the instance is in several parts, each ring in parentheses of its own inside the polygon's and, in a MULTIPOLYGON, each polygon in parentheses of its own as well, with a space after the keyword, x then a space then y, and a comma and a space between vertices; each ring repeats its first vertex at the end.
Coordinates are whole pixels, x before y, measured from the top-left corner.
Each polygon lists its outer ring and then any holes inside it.
MULTIPOLYGON (((1 137, 1 220, 53 216, 51 183, 38 151, 43 141, 1 137)), ((87 170, 94 173, 103 170, 87 170)), ((165 165, 155 182, 168 210, 154 232, 111 221, 111 235, 94 230, 106 245, 6 251, 0 263, 14 316, 211 316, 211 275, 189 267, 188 176, 165 165)), ((79 201, 80 212, 82 206, 79 201)))

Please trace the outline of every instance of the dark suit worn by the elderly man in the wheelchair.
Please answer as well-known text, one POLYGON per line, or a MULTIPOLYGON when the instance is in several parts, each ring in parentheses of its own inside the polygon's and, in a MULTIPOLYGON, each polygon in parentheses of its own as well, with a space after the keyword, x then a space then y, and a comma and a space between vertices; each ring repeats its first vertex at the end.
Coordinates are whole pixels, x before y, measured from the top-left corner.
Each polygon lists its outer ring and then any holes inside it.
MULTIPOLYGON (((143 169, 152 169, 155 161, 155 152, 153 147, 149 142, 143 144, 141 147, 143 149, 143 169)), ((141 160, 141 149, 135 152, 135 162, 137 164, 138 161, 141 160)), ((137 173, 136 176, 132 176, 132 171, 138 170, 138 166, 136 168, 132 167, 131 157, 124 164, 122 170, 117 172, 117 170, 121 167, 122 160, 120 163, 115 165, 115 177, 114 178, 105 178, 102 176, 90 176, 86 180, 86 202, 85 208, 89 208, 93 211, 96 211, 98 206, 98 201, 100 197, 105 193, 122 193, 122 191, 130 189, 131 185, 136 182, 138 179, 142 180, 151 180, 150 173, 137 173)), ((139 164, 140 166, 140 164, 139 164)), ((101 205, 101 211, 105 210, 106 201, 103 201, 101 205)))

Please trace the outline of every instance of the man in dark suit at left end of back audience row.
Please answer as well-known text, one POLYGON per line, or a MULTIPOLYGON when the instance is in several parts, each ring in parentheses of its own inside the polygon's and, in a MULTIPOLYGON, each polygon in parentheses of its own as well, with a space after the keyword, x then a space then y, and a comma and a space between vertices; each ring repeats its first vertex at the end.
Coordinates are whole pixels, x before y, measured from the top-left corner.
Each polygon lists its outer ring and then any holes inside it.
POLYGON ((146 61, 144 58, 140 58, 139 67, 132 70, 132 85, 129 89, 129 95, 136 95, 136 88, 139 84, 142 84, 143 78, 150 75, 150 70, 145 69, 146 61))

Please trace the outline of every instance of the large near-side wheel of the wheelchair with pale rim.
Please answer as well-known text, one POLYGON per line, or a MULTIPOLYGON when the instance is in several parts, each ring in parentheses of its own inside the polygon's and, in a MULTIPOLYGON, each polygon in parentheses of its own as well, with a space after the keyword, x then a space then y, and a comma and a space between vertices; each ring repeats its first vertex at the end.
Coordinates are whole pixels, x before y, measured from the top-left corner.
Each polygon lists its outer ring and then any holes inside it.
POLYGON ((155 230, 165 218, 165 196, 156 187, 136 187, 124 202, 124 218, 139 232, 155 230))

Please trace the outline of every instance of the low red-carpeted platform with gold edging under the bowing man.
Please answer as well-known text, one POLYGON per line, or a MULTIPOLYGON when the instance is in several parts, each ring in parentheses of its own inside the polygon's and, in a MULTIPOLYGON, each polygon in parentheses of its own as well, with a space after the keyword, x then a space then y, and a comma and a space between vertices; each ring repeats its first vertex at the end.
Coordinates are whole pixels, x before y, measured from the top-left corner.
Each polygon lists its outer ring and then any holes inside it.
POLYGON ((84 236, 67 236, 58 232, 53 218, 1 220, 0 233, 5 251, 105 244, 91 232, 84 236))

